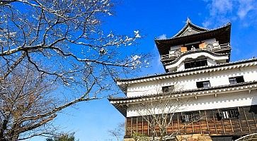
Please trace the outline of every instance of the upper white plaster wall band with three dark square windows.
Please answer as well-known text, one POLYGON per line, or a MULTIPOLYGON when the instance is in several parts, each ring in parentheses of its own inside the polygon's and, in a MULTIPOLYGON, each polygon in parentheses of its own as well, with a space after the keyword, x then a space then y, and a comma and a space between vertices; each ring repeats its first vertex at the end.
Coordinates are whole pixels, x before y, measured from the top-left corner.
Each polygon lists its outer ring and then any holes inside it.
POLYGON ((241 69, 234 68, 232 70, 217 71, 214 73, 201 73, 165 80, 140 82, 127 86, 127 97, 156 94, 161 92, 161 87, 168 85, 175 85, 176 90, 192 90, 197 88, 196 82, 205 80, 210 80, 211 87, 229 85, 229 78, 239 75, 244 75, 245 82, 257 80, 257 66, 241 69))

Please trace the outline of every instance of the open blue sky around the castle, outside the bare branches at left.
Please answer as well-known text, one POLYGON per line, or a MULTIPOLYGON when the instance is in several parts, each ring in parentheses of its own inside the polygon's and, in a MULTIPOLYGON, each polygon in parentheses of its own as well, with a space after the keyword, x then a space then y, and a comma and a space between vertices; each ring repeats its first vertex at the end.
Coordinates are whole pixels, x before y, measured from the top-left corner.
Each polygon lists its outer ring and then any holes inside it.
MULTIPOLYGON (((103 28, 119 34, 139 30, 144 37, 138 41, 138 51, 154 54, 152 68, 137 75, 164 73, 154 37, 169 38, 176 34, 189 17, 193 23, 213 29, 232 23, 232 61, 257 56, 257 1, 253 0, 184 0, 184 1, 118 1, 115 14, 105 19, 103 28)), ((56 124, 62 130, 76 132, 80 141, 105 141, 112 137, 107 130, 115 128, 125 118, 107 99, 84 102, 59 114, 56 124)), ((41 137, 33 140, 44 140, 41 137)))

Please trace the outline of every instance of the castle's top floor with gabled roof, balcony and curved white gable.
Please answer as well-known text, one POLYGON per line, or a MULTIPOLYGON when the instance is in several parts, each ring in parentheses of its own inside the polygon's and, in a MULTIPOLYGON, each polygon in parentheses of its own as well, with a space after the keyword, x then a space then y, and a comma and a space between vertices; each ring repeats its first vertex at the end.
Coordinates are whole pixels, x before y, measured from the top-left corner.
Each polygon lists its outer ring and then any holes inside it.
POLYGON ((156 47, 166 72, 198 66, 212 66, 230 60, 231 24, 209 30, 189 19, 170 39, 156 39, 156 47))

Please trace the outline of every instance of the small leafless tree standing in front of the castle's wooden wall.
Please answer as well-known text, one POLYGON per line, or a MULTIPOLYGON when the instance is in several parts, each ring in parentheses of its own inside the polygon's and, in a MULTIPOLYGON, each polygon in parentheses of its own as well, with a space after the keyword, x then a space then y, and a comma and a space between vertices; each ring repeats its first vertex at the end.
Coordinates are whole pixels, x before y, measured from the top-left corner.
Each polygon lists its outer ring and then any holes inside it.
MULTIPOLYGON (((181 130, 193 122, 200 120, 198 114, 181 116, 181 120, 185 121, 184 124, 173 130, 172 133, 168 132, 168 128, 173 125, 174 115, 178 114, 178 111, 183 110, 183 106, 190 101, 190 98, 178 98, 174 99, 172 94, 181 94, 182 90, 176 90, 173 92, 161 92, 157 91, 152 99, 147 102, 139 102, 136 104, 130 104, 129 106, 135 110, 135 112, 149 125, 150 135, 137 133, 137 131, 132 130, 132 137, 138 141, 144 140, 175 140, 176 135, 181 133, 181 130)), ((177 117, 176 117, 177 118, 177 117)))

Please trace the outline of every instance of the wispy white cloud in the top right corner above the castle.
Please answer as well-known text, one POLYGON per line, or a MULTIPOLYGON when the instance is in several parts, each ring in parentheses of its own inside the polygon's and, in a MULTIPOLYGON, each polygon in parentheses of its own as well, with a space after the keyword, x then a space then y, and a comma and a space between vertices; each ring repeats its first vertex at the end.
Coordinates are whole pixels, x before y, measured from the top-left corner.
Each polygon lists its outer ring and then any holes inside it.
POLYGON ((257 0, 203 1, 207 3, 207 8, 209 10, 209 16, 207 16, 202 23, 204 27, 219 27, 229 21, 235 20, 239 20, 242 26, 249 26, 257 23, 257 0))

